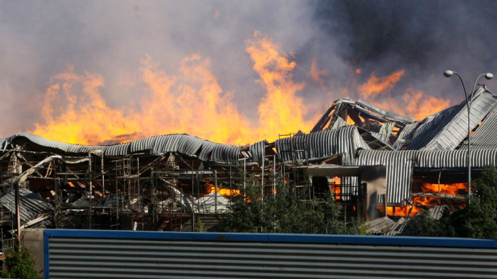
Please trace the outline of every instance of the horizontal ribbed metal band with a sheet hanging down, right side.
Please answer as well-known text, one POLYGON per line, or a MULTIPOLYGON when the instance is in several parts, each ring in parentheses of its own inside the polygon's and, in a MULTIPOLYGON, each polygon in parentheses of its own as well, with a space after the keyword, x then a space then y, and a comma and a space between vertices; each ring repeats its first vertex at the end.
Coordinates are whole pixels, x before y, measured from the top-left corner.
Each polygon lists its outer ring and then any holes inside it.
MULTIPOLYGON (((497 149, 471 150, 471 165, 497 165, 497 149)), ((387 167, 387 202, 400 205, 410 198, 413 167, 467 167, 467 150, 360 150, 357 165, 387 167)))

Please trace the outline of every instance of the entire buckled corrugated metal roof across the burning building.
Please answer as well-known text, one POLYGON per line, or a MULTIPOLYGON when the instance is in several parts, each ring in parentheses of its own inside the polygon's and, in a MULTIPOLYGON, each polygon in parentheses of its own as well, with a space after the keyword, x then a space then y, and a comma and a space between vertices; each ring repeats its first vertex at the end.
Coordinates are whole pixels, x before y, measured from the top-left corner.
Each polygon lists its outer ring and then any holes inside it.
MULTIPOLYGON (((472 136, 472 165, 497 165, 497 97, 485 86, 473 95, 469 126, 472 136)), ((260 163, 276 156, 280 162, 334 158, 342 165, 387 166, 387 201, 402 205, 409 199, 414 167, 467 167, 465 145, 468 133, 466 102, 427 118, 414 121, 384 111, 364 101, 335 101, 309 134, 281 138, 273 143, 261 140, 248 147, 218 144, 186 134, 154 136, 129 143, 87 146, 46 140, 29 133, 0 140, 0 147, 23 146, 25 150, 61 155, 81 155, 90 151, 104 156, 177 153, 201 161, 219 163, 247 159, 260 163)), ((345 177, 352 185, 357 179, 345 177)), ((350 190, 351 191, 351 190, 350 190)))

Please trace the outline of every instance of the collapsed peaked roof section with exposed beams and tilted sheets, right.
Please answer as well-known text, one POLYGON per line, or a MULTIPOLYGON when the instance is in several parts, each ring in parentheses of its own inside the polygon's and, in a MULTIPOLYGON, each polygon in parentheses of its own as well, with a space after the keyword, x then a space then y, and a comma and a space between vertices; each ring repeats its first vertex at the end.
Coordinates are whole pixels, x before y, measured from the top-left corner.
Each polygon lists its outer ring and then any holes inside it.
MULTIPOLYGON (((497 97, 490 90, 485 86, 478 88, 473 96, 469 123, 471 130, 482 126, 473 137, 478 148, 497 147, 497 140, 490 136, 497 123, 496 105, 497 97)), ((414 121, 412 117, 387 112, 361 100, 340 99, 326 111, 312 132, 349 125, 369 131, 395 150, 455 150, 467 138, 468 111, 463 101, 414 121)))

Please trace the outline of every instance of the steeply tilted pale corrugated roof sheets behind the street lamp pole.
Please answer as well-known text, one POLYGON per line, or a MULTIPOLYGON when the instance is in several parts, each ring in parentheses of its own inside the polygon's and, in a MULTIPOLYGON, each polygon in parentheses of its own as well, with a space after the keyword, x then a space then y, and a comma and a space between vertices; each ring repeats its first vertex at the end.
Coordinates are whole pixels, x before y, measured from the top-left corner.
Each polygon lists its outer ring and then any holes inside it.
MULTIPOLYGON (((497 98, 484 87, 478 89, 471 105, 470 126, 476 127, 491 108, 497 104, 497 98)), ((468 111, 466 102, 454 106, 433 116, 429 116, 414 132, 408 149, 453 150, 468 135, 468 111)))

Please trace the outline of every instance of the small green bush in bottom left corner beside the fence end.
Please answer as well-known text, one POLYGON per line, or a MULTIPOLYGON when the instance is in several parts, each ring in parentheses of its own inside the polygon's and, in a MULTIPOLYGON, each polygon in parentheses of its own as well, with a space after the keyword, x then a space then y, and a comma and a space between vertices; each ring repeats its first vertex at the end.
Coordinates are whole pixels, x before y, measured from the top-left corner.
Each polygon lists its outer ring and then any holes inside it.
POLYGON ((2 277, 5 278, 41 278, 35 269, 35 260, 31 258, 31 253, 23 248, 12 249, 6 253, 5 268, 2 270, 2 277))

